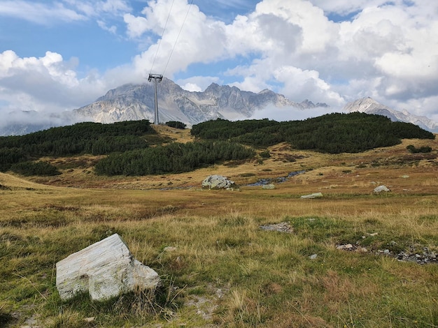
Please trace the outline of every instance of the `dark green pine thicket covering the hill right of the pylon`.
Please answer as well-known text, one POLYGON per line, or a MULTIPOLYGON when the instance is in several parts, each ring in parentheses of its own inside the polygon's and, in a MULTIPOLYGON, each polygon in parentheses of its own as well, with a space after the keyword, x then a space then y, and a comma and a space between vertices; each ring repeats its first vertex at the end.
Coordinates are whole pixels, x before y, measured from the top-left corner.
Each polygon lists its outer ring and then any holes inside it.
POLYGON ((191 133, 199 139, 230 140, 253 147, 288 142, 294 149, 331 154, 394 146, 404 138, 435 139, 433 133, 414 124, 393 122, 388 117, 360 112, 332 113, 285 122, 217 119, 192 126, 191 133))

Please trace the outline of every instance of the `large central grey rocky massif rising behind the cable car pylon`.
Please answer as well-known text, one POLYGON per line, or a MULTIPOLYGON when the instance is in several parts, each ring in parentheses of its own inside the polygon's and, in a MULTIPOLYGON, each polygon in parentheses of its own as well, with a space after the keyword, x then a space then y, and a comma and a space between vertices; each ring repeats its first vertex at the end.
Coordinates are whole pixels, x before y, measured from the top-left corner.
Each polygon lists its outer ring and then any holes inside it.
MULTIPOLYGON (((188 126, 218 118, 248 119, 256 110, 262 110, 268 105, 289 106, 300 110, 329 107, 325 103, 313 104, 309 100, 295 103, 267 89, 255 94, 216 83, 203 92, 193 92, 164 78, 157 89, 160 122, 181 121, 188 126)), ((153 83, 125 84, 73 112, 83 119, 101 123, 138 119, 154 121, 155 86, 153 83)))

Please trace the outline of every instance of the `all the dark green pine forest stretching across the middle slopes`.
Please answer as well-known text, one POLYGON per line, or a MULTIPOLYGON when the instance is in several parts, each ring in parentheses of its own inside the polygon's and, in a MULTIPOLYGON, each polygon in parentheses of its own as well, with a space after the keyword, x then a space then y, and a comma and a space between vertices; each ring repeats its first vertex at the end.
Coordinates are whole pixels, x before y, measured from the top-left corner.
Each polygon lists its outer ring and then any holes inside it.
MULTIPOLYGON (((167 125, 185 128, 177 121, 167 125)), ((97 163, 97 174, 164 174, 187 172, 221 161, 246 160, 255 156, 254 149, 266 149, 279 142, 287 142, 292 149, 339 154, 389 147, 404 138, 435 139, 434 134, 414 124, 359 112, 325 114, 304 121, 216 119, 192 126, 191 134, 195 142, 169 143, 169 138, 158 135, 149 121, 142 120, 85 122, 0 137, 0 172, 59 174, 56 167, 34 161, 45 156, 92 154, 108 155, 97 163)))

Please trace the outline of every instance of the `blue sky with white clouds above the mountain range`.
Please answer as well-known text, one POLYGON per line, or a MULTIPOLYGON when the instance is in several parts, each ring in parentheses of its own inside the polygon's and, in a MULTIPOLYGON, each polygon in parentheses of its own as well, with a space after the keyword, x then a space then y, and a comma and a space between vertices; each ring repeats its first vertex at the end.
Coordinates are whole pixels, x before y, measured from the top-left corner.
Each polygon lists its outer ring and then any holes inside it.
POLYGON ((73 110, 149 73, 332 112, 369 96, 438 121, 438 1, 0 0, 0 121, 73 110))

